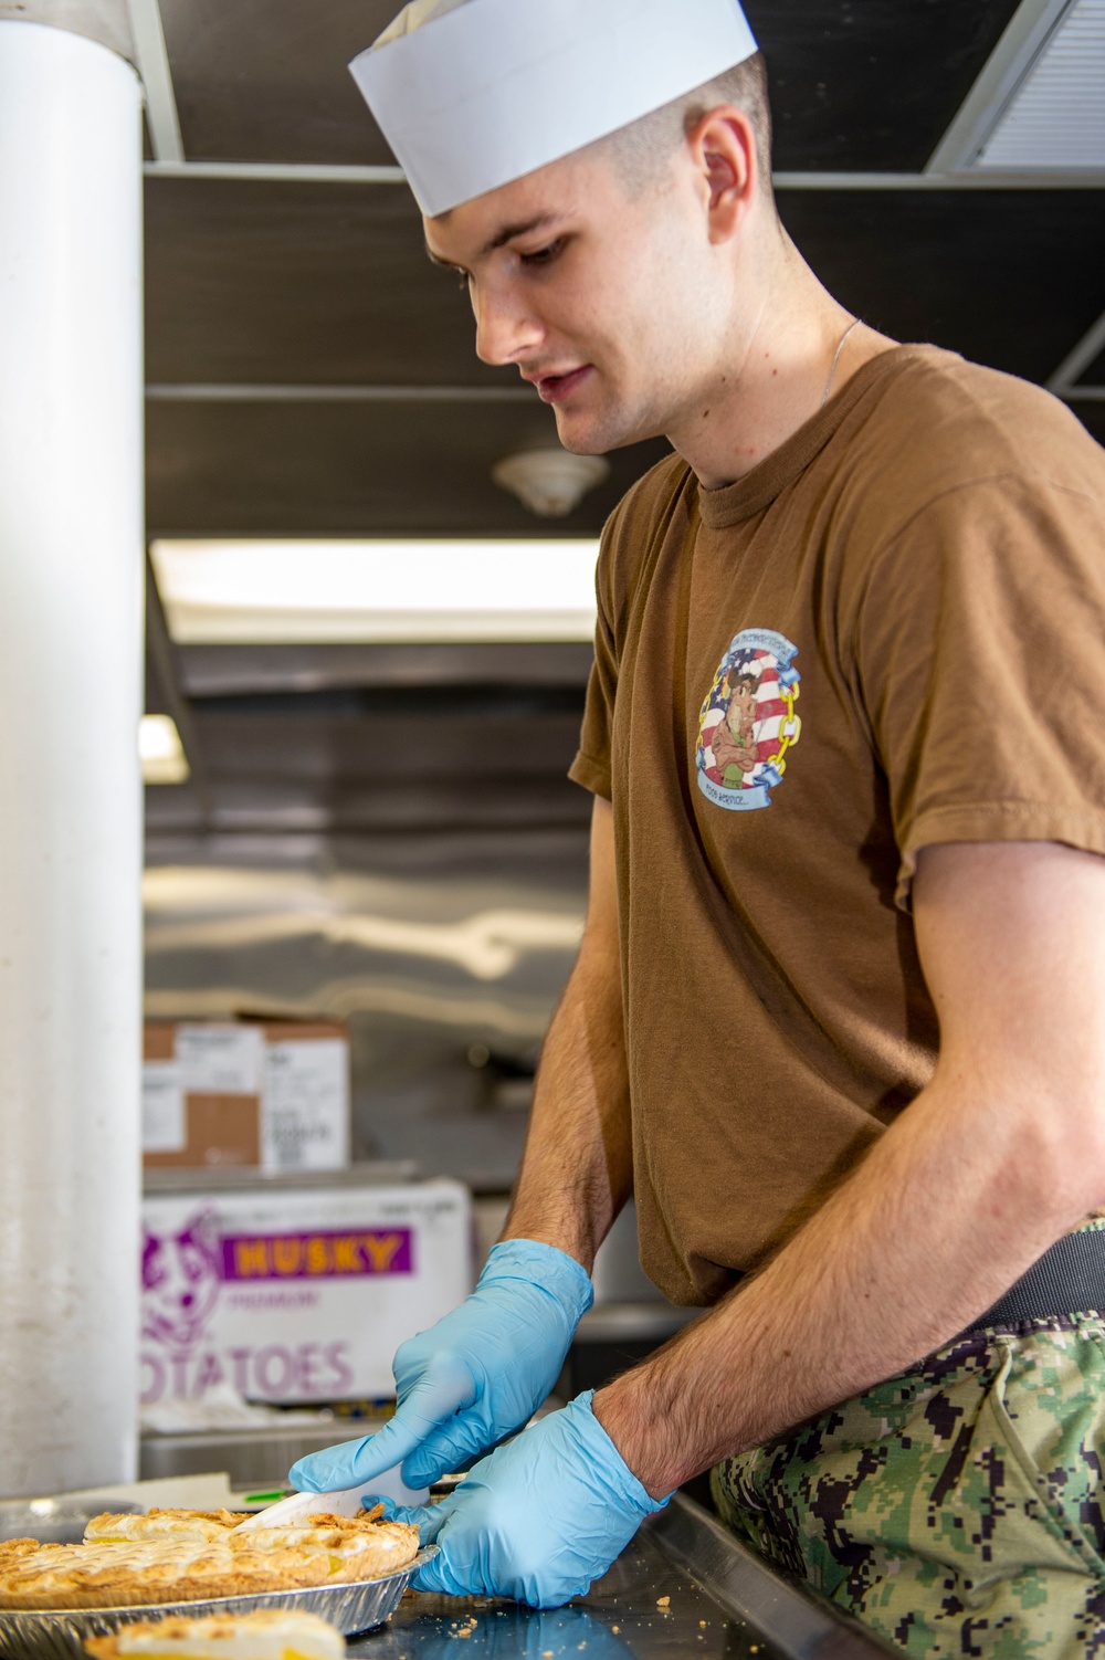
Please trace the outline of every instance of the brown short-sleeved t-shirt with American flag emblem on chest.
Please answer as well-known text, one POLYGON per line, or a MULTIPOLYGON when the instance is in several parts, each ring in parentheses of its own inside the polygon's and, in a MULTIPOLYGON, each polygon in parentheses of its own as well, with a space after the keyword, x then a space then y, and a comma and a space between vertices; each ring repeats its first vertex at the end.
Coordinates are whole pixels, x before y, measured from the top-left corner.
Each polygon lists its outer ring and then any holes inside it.
POLYGON ((572 777, 614 803, 642 1262, 713 1301, 932 1074, 932 842, 1105 852, 1105 452, 896 347, 612 515, 572 777))

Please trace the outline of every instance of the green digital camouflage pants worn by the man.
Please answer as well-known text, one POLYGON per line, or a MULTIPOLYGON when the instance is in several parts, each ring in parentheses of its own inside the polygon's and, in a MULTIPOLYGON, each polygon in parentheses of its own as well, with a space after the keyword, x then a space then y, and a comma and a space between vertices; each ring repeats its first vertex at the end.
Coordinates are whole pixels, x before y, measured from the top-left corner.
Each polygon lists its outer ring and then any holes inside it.
POLYGON ((974 1333, 713 1471, 722 1519, 909 1655, 1105 1660, 1105 1320, 974 1333))

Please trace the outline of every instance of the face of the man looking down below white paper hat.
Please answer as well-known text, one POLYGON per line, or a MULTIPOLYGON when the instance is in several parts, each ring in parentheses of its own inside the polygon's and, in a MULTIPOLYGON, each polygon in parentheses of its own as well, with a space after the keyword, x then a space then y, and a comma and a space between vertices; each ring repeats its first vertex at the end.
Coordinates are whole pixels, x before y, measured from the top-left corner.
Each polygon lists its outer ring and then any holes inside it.
POLYGON ((483 362, 518 365, 564 448, 597 455, 672 433, 699 395, 713 332, 703 219, 677 163, 630 196, 592 148, 425 231, 430 256, 466 281, 483 362))

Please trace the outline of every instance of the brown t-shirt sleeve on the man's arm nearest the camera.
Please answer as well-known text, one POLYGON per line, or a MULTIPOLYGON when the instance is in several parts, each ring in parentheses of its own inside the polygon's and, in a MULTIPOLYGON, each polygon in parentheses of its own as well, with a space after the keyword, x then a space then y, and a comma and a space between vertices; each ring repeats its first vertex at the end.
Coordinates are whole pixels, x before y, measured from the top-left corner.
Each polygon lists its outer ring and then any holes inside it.
POLYGON ((903 910, 936 842, 1105 853, 1103 500, 1039 478, 961 485, 873 561, 856 672, 903 910))

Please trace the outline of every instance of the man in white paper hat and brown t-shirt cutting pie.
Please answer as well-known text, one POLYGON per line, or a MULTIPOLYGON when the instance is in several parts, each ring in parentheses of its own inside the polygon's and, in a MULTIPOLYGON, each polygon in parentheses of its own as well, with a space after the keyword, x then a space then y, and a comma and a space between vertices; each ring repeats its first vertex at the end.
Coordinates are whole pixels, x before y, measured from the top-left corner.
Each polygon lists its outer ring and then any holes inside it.
POLYGON ((825 292, 733 0, 418 0, 353 70, 479 355, 567 448, 675 453, 604 536, 587 925, 503 1242, 393 1424, 292 1476, 516 1431, 634 1192, 710 1311, 420 1512, 423 1589, 556 1605, 713 1469, 909 1653, 1098 1652, 1102 452, 825 292))

